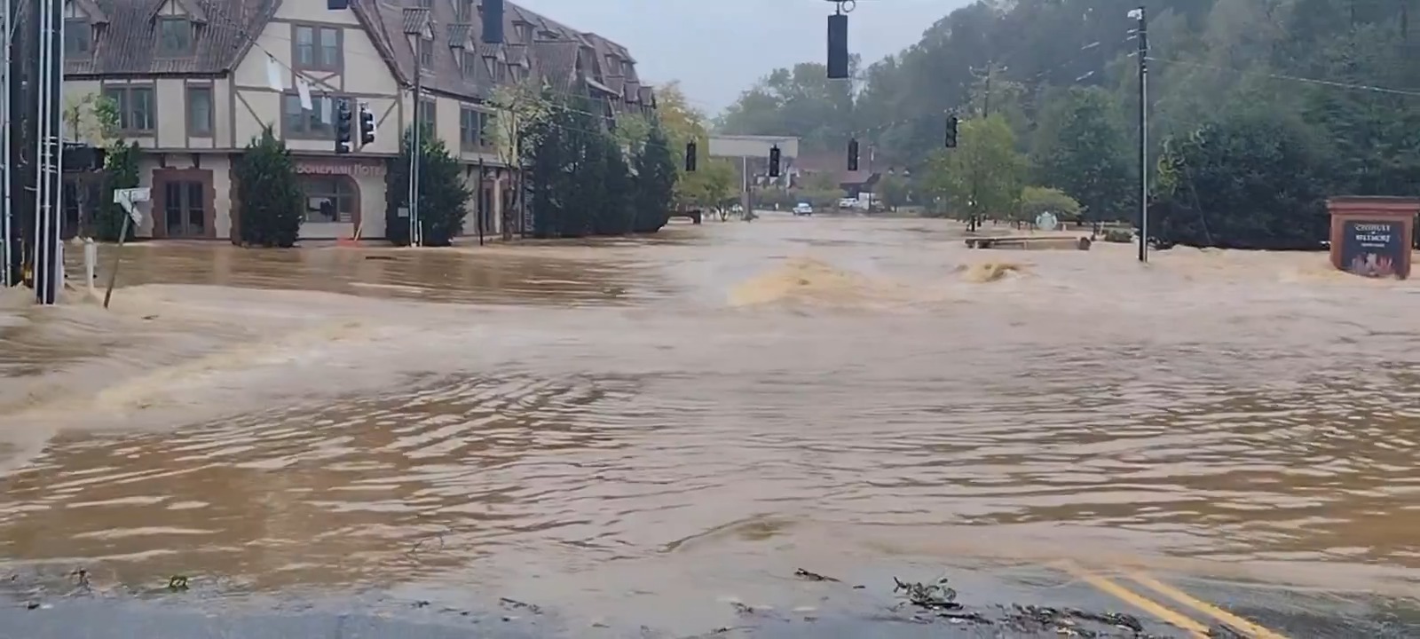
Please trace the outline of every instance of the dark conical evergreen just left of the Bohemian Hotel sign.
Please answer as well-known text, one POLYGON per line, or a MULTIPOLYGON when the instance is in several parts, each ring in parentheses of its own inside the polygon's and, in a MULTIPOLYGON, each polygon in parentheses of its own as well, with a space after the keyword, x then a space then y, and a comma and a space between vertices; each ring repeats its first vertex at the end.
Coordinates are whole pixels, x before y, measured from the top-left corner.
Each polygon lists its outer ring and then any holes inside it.
POLYGON ((271 126, 247 142, 237 160, 240 237, 246 246, 293 247, 301 234, 305 206, 295 180, 295 162, 271 126))

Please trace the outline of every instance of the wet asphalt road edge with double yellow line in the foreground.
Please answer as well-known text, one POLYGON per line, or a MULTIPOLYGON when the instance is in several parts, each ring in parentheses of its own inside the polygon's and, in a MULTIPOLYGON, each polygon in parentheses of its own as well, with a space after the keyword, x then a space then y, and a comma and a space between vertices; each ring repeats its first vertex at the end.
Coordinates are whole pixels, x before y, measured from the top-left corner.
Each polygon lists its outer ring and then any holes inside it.
POLYGON ((234 595, 220 588, 97 595, 71 579, 10 577, 0 599, 0 639, 99 638, 1420 638, 1420 605, 1363 595, 1287 592, 1241 584, 1098 575, 1071 567, 953 572, 950 594, 914 592, 799 574, 787 588, 821 605, 774 609, 738 602, 703 629, 588 622, 555 602, 463 594, 474 604, 388 594, 297 598, 234 595))

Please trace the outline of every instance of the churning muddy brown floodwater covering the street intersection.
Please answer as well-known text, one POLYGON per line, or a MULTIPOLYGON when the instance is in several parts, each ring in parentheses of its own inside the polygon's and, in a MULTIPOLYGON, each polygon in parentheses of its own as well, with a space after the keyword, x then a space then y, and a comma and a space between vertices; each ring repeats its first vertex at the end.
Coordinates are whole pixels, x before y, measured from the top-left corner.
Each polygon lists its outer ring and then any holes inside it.
POLYGON ((599 613, 902 558, 1420 579, 1420 285, 954 237, 131 247, 111 311, 0 304, 0 557, 599 613))

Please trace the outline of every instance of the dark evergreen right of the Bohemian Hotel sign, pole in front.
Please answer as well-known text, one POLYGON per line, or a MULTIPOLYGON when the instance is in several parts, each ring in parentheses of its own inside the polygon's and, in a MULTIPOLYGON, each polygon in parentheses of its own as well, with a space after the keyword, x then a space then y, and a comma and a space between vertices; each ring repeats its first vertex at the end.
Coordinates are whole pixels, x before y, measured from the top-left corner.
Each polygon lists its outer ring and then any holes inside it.
MULTIPOLYGON (((395 246, 409 244, 409 217, 399 210, 409 206, 409 168, 413 131, 399 143, 385 178, 385 237, 395 246)), ((419 227, 423 246, 450 246, 463 233, 463 219, 473 192, 463 183, 459 160, 449 155, 443 141, 429 126, 419 135, 419 227)))

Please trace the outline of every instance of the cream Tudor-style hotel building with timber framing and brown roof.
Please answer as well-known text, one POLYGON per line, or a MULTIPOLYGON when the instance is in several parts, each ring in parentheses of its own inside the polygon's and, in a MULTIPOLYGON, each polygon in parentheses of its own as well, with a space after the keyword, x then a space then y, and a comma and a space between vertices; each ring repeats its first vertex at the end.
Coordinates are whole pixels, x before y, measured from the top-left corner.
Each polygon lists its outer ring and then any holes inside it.
MULTIPOLYGON (((233 162, 271 125, 305 190, 301 237, 359 229, 376 239, 385 234, 385 175, 413 122, 415 74, 423 74, 422 118, 459 155, 477 193, 464 233, 477 233, 480 209, 484 233, 498 233, 508 169, 486 135, 497 85, 540 81, 552 92, 585 92, 612 119, 649 112, 656 101, 625 47, 506 7, 506 43, 488 45, 479 40, 481 0, 352 0, 342 11, 317 0, 70 0, 65 104, 112 98, 121 135, 145 151, 139 176, 152 187, 152 214, 139 237, 234 240, 233 162), (406 36, 415 30, 432 36, 422 48, 406 36), (334 152, 335 101, 369 105, 372 145, 334 152)), ((80 139, 92 129, 71 128, 80 139)), ((91 195, 67 199, 72 234, 98 189, 82 179, 67 189, 91 195)))

